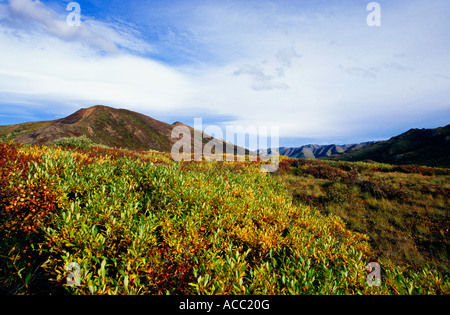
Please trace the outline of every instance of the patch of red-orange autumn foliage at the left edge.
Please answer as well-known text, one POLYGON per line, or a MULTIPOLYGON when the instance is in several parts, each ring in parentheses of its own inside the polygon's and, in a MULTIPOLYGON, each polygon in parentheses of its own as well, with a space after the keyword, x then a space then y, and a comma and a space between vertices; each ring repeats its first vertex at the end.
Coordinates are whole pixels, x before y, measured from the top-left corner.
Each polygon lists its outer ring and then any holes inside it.
POLYGON ((58 209, 50 183, 43 179, 36 182, 28 176, 33 165, 39 162, 38 157, 19 154, 15 145, 0 143, 0 250, 1 272, 6 278, 1 289, 4 291, 16 282, 29 290, 31 276, 38 272, 39 262, 42 263, 33 247, 42 240, 41 228, 58 209), (21 257, 27 262, 18 263, 21 257))

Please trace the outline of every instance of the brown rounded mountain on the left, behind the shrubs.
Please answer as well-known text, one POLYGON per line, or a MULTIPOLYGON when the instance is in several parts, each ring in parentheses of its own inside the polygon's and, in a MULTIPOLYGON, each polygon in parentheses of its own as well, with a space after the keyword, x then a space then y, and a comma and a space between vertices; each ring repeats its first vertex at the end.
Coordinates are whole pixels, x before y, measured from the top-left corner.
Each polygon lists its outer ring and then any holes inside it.
MULTIPOLYGON (((173 144, 179 140, 171 136, 172 130, 177 126, 184 126, 190 130, 194 152, 194 146, 197 145, 193 141, 194 128, 180 122, 171 125, 130 110, 102 105, 83 108, 57 120, 0 126, 0 140, 14 140, 23 144, 48 144, 60 138, 85 135, 94 143, 109 147, 170 152, 173 144)), ((221 139, 205 139, 209 135, 203 132, 201 134, 202 146, 214 142, 222 144, 224 152, 227 149, 237 152, 239 149, 221 139)), ((245 152, 248 153, 248 150, 245 152)))

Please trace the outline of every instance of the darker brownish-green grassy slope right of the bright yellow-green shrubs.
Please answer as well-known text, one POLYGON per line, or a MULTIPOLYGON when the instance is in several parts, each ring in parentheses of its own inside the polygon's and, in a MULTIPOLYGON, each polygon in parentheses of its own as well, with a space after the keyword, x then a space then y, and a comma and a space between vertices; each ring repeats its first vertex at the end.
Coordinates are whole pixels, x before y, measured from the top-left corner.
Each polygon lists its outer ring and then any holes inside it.
POLYGON ((385 164, 290 161, 295 200, 368 235, 376 257, 450 271, 450 171, 385 164))

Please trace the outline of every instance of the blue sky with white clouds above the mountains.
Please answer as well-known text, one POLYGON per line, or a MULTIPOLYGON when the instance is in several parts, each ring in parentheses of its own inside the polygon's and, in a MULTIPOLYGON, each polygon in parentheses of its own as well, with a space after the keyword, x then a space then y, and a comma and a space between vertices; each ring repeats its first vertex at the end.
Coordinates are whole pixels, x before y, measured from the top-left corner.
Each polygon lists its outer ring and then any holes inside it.
POLYGON ((450 1, 0 0, 0 125, 108 105, 280 145, 450 123, 450 1))

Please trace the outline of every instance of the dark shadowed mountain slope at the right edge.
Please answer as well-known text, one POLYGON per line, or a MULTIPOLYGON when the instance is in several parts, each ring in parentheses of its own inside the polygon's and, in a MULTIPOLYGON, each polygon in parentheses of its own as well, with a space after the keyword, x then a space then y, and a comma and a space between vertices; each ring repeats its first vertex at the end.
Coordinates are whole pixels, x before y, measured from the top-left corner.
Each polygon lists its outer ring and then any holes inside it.
POLYGON ((450 125, 436 129, 411 129, 389 140, 333 155, 329 159, 449 168, 450 125))

